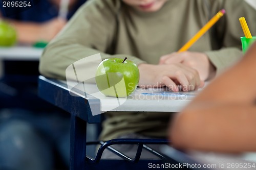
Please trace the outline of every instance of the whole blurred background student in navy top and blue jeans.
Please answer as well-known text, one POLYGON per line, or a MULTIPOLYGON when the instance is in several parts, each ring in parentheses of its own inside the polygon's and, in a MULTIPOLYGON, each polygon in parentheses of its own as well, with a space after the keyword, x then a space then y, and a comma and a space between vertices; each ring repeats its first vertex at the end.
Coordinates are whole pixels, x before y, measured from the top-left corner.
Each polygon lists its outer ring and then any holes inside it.
MULTIPOLYGON (((86 0, 70 0, 67 18, 59 17, 60 1, 38 2, 25 11, 1 8, 3 19, 16 29, 19 44, 50 41, 86 0)), ((5 64, 18 76, 5 72, 0 81, 0 169, 68 169, 69 115, 38 98, 38 62, 5 64)))

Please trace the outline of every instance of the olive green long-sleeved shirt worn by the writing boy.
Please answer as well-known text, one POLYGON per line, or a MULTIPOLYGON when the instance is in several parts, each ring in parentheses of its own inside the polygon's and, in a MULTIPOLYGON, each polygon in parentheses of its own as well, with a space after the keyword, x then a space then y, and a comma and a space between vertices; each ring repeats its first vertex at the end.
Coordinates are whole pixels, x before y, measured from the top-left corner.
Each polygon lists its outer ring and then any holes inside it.
MULTIPOLYGON (((90 0, 48 44, 39 71, 65 79, 70 64, 97 53, 102 59, 127 57, 137 65, 157 64, 161 56, 178 51, 221 9, 226 14, 189 48, 205 53, 220 72, 242 56, 239 17, 246 18, 251 34, 256 35, 256 11, 244 0, 169 0, 153 13, 140 12, 121 0, 90 0)), ((165 137, 172 113, 106 115, 104 140, 125 133, 165 137)))

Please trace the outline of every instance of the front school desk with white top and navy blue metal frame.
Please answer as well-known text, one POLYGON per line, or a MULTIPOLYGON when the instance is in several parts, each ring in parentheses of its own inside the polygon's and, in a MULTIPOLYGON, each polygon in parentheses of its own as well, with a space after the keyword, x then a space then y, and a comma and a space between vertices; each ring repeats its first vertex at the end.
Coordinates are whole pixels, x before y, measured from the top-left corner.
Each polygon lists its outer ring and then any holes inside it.
MULTIPOLYGON (((95 85, 92 85, 92 88, 95 87, 95 85)), ((73 88, 72 91, 70 91, 65 81, 47 79, 42 76, 38 79, 38 94, 42 99, 71 113, 70 169, 101 169, 102 167, 104 167, 104 169, 110 169, 111 167, 120 169, 120 167, 123 167, 121 164, 125 164, 125 169, 143 169, 143 167, 145 169, 145 167, 148 166, 148 162, 143 160, 140 160, 137 164, 129 164, 123 160, 101 160, 101 162, 103 161, 103 166, 102 164, 90 164, 86 162, 87 124, 85 122, 100 123, 100 114, 93 116, 92 109, 98 111, 98 113, 101 113, 102 111, 111 111, 101 109, 102 100, 104 103, 104 100, 113 100, 114 98, 97 99, 90 94, 84 93, 84 91, 79 88, 73 88), (73 95, 71 95, 70 92, 73 95), (91 102, 90 105, 89 102, 91 102)), ((150 111, 150 108, 153 108, 154 110, 152 111, 170 111, 168 109, 171 109, 172 111, 180 111, 182 105, 184 106, 189 102, 189 100, 137 100, 136 96, 131 99, 133 96, 134 95, 128 98, 124 104, 113 110, 150 111), (150 107, 150 105, 152 105, 152 107, 150 107)), ((151 162, 161 163, 161 160, 151 160, 151 162)))

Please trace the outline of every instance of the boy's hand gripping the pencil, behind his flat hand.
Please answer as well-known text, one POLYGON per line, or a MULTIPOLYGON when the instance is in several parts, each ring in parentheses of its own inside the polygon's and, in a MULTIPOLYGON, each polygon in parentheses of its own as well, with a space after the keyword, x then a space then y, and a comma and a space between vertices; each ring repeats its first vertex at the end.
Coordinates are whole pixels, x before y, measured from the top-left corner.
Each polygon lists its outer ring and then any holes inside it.
POLYGON ((198 70, 202 81, 211 79, 215 76, 216 69, 211 64, 208 57, 204 53, 198 52, 182 52, 172 53, 162 56, 159 60, 159 64, 175 64, 182 63, 186 66, 192 67, 198 70))

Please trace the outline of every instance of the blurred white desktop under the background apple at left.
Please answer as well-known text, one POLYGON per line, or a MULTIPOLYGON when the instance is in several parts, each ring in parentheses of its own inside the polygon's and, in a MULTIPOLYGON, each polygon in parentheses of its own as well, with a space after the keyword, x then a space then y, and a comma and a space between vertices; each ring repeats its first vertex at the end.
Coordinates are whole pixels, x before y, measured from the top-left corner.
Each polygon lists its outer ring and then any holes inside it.
POLYGON ((35 60, 41 57, 44 48, 32 46, 0 47, 0 60, 35 60))

